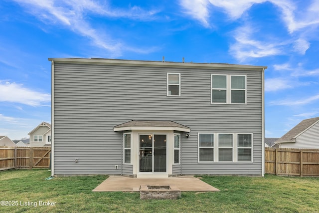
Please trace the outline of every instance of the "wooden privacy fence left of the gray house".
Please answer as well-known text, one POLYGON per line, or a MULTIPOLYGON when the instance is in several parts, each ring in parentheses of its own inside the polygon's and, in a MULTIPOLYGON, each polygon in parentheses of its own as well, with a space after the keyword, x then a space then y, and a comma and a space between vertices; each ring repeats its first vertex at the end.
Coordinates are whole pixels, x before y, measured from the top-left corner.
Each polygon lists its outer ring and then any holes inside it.
POLYGON ((50 167, 51 147, 0 147, 0 171, 50 167))

